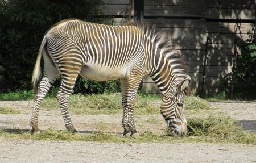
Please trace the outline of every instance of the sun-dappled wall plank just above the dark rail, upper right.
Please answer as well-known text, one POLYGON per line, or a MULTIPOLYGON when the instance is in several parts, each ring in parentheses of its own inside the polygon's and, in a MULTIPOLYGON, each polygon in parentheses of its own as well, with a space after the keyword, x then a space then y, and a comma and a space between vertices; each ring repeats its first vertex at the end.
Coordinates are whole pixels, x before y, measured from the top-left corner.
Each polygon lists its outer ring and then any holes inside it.
POLYGON ((208 19, 255 19, 254 9, 208 8, 204 15, 208 19))

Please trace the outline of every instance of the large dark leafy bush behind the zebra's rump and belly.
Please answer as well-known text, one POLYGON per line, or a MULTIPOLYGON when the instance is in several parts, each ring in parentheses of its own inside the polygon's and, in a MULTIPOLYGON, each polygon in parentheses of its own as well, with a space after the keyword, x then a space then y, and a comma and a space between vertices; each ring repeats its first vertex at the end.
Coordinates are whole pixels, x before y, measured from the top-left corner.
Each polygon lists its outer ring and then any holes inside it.
MULTIPOLYGON (((100 3, 101 0, 0 0, 0 92, 31 90, 39 46, 45 32, 56 22, 77 18, 111 23, 110 19, 98 18, 100 3)), ((118 90, 115 83, 79 78, 74 90, 75 93, 115 91, 118 90)))

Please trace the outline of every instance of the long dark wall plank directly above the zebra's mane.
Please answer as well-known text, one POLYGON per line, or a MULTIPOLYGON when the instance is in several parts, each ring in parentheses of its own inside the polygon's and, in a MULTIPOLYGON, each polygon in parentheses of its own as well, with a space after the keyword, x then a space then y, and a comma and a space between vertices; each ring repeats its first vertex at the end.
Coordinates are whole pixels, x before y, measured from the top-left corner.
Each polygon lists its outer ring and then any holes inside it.
POLYGON ((169 27, 169 28, 205 28, 205 19, 166 19, 166 18, 156 18, 156 19, 143 19, 143 22, 150 24, 151 26, 155 24, 155 27, 169 27))

